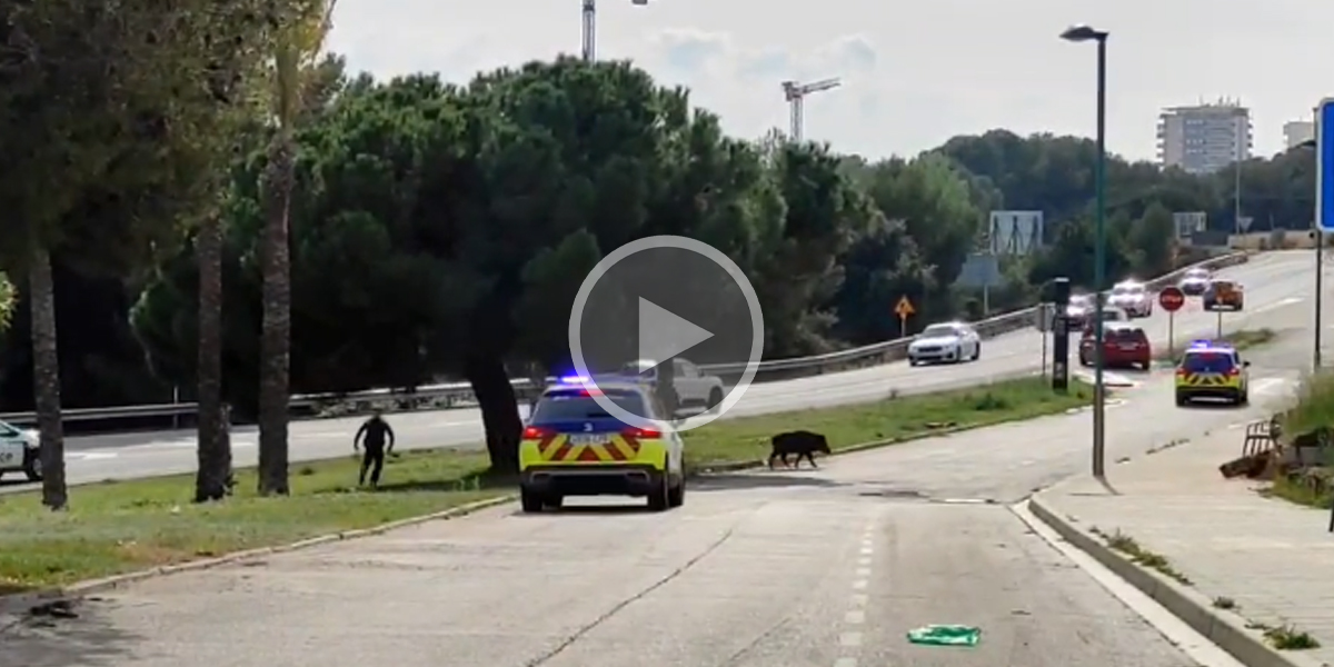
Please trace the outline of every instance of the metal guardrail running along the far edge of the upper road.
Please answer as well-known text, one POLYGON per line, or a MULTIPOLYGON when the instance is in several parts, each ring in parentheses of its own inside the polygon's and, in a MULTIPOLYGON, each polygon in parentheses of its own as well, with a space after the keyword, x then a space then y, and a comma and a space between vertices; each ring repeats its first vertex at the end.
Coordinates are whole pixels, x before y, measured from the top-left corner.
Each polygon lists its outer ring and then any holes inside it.
MULTIPOLYGON (((1250 253, 1247 252, 1234 252, 1173 271, 1171 273, 1150 280, 1147 284, 1151 289, 1159 289, 1169 284, 1175 284, 1181 279, 1182 273, 1190 268, 1203 267, 1209 269, 1219 269, 1234 267, 1237 264, 1245 264, 1249 259, 1250 253)), ((984 339, 1010 334, 1026 327, 1033 327, 1035 323, 1035 311, 1037 307, 1029 307, 1005 315, 998 315, 995 317, 974 323, 974 328, 984 339)), ((851 350, 840 350, 838 352, 828 352, 824 355, 760 362, 758 364, 754 382, 778 382, 898 362, 907 355, 910 342, 911 339, 899 339, 851 350)), ((744 370, 744 363, 700 364, 700 371, 723 378, 739 378, 744 370)), ((531 396, 532 392, 540 388, 535 386, 532 380, 527 379, 515 379, 511 380, 511 383, 520 394, 520 398, 531 396)), ((446 407, 458 407, 460 403, 470 403, 475 400, 472 396, 472 387, 468 383, 446 383, 418 387, 412 391, 371 390, 356 394, 297 395, 292 396, 289 408, 303 412, 317 412, 323 406, 335 403, 368 403, 384 399, 410 402, 435 399, 443 400, 446 407)), ((156 406, 64 410, 61 411, 61 418, 65 422, 181 418, 192 416, 197 412, 197 410, 199 406, 196 403, 164 403, 156 406)), ((0 414, 0 420, 17 424, 31 424, 36 422, 36 414, 5 412, 0 414)))

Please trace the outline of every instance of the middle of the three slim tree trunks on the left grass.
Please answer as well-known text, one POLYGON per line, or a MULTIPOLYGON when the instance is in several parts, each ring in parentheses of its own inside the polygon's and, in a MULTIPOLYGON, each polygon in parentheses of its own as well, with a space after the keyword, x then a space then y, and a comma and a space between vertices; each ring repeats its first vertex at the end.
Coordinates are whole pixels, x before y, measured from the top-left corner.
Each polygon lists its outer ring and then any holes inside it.
POLYGON ((199 472, 195 502, 221 500, 231 474, 231 443, 223 438, 223 224, 211 213, 196 239, 199 257, 199 472))

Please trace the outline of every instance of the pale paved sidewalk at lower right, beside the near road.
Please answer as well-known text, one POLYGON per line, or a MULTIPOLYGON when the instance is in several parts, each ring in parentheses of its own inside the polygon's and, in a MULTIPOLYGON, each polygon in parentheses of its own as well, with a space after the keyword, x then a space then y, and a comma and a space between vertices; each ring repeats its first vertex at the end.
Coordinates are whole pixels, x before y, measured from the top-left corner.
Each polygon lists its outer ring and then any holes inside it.
POLYGON ((1239 454, 1241 442, 1241 430, 1215 431, 1111 466, 1110 490, 1081 478, 1038 494, 1030 508, 1243 663, 1334 664, 1329 512, 1262 498, 1255 492, 1261 482, 1225 480, 1218 466, 1239 454), (1119 531, 1165 556, 1190 586, 1113 556, 1105 539, 1090 536, 1094 528, 1106 535, 1119 531), (1235 600, 1235 607, 1219 610, 1214 606, 1218 598, 1235 600), (1293 626, 1322 646, 1262 648, 1257 623, 1293 626))

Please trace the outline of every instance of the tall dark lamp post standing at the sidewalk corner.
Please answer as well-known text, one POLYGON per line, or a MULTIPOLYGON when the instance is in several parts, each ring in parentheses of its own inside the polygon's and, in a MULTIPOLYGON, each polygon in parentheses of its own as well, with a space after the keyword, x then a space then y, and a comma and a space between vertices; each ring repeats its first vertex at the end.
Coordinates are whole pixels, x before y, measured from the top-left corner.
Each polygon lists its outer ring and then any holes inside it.
POLYGON ((1106 296, 1107 271, 1107 32, 1087 25, 1071 25, 1061 33, 1066 41, 1098 43, 1098 161, 1094 167, 1094 259, 1093 288, 1098 308, 1094 311, 1094 366, 1093 366, 1093 475, 1106 476, 1107 394, 1103 390, 1103 331, 1102 308, 1106 296))

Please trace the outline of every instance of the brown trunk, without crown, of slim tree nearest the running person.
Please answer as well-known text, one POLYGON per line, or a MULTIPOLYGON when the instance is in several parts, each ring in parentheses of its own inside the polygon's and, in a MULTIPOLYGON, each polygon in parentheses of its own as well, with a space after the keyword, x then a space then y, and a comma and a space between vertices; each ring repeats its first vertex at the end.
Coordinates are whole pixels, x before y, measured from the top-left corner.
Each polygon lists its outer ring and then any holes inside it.
POLYGON ((292 285, 287 217, 292 199, 291 133, 273 139, 264 188, 265 220, 261 241, 263 309, 259 380, 259 492, 287 495, 287 403, 291 363, 292 285))

